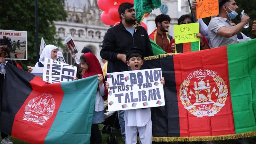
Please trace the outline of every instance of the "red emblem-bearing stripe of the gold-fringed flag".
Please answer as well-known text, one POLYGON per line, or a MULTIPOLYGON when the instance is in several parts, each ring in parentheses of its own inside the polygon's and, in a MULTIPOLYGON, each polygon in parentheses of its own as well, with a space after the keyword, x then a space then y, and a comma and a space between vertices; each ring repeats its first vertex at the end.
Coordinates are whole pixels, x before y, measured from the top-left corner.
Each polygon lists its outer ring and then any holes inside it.
POLYGON ((227 47, 177 54, 173 56, 173 61, 180 115, 180 136, 234 134, 228 81, 227 47), (217 76, 225 81, 228 91, 225 105, 221 109, 213 106, 213 103, 220 102, 220 98, 218 98, 220 93, 218 92, 218 96, 216 96, 212 92, 213 87, 219 91, 217 83, 213 80, 213 77, 217 78, 217 76), (191 98, 188 96, 190 90, 193 92, 191 92, 191 98), (182 104, 184 102, 187 103, 186 106, 182 104))

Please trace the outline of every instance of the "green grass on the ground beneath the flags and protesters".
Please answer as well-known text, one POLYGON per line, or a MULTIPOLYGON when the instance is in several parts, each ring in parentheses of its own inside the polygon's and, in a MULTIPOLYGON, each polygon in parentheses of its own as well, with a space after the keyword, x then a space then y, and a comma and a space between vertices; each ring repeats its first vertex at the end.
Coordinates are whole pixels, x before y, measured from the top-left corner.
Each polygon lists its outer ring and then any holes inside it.
MULTIPOLYGON (((100 130, 102 129, 102 127, 103 127, 103 124, 99 124, 100 130)), ((110 134, 101 133, 101 135, 102 135, 102 144, 108 144, 107 140, 110 134)), ((120 130, 113 131, 113 135, 117 136, 118 144, 124 144, 120 130)), ((9 137, 9 139, 13 142, 13 144, 28 144, 27 142, 24 142, 12 137, 9 137)), ((256 144, 256 139, 254 137, 249 137, 247 139, 249 141, 249 144, 256 144)), ((137 144, 139 144, 139 142, 137 144)), ((153 142, 153 144, 176 144, 176 142, 153 142)), ((182 142, 179 144, 198 144, 198 142, 182 142)), ((236 140, 221 140, 221 141, 216 141, 216 144, 236 144, 236 140)))

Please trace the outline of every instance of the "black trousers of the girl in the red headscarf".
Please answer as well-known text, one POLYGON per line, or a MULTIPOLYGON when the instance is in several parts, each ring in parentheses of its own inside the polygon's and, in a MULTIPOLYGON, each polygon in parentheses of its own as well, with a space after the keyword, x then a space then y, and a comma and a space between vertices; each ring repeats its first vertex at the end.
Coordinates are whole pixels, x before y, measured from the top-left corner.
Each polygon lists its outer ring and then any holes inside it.
POLYGON ((99 129, 99 124, 92 124, 92 129, 91 129, 91 143, 92 144, 101 144, 102 143, 102 138, 101 138, 101 133, 99 129))

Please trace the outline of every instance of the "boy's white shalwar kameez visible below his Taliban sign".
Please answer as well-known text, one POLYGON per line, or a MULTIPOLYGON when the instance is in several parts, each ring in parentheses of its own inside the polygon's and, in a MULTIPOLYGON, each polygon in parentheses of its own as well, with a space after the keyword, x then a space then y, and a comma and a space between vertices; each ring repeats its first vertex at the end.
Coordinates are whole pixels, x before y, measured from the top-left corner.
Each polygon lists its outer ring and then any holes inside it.
POLYGON ((150 108, 129 109, 124 112, 125 143, 136 144, 139 131, 142 144, 152 143, 152 121, 150 108))

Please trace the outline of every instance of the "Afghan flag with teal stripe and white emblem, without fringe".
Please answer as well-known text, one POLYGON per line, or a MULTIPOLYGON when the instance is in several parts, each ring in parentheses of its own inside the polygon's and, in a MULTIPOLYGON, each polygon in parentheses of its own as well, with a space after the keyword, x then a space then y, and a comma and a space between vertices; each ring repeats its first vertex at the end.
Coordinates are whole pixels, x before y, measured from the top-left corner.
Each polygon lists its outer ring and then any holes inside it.
POLYGON ((36 144, 90 143, 97 76, 49 84, 6 64, 0 130, 36 144))

